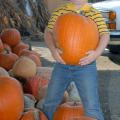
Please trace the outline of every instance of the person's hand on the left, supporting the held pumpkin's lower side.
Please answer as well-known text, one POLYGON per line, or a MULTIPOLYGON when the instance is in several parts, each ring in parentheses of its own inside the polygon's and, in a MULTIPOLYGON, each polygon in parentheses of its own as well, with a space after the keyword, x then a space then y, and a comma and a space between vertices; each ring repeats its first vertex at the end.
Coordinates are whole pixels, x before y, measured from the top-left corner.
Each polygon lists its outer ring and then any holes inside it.
POLYGON ((65 64, 64 60, 61 58, 60 54, 62 54, 62 51, 58 48, 56 48, 53 52, 52 52, 52 56, 53 58, 59 62, 59 63, 62 63, 62 64, 65 64))

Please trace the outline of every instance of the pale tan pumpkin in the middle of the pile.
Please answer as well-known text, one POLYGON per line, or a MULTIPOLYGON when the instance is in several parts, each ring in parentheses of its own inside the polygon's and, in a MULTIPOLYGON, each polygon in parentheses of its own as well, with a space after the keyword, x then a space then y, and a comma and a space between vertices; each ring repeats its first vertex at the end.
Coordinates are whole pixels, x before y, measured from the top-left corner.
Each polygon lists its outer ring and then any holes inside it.
POLYGON ((35 76, 36 64, 28 57, 20 57, 13 65, 12 72, 16 77, 29 78, 35 76))

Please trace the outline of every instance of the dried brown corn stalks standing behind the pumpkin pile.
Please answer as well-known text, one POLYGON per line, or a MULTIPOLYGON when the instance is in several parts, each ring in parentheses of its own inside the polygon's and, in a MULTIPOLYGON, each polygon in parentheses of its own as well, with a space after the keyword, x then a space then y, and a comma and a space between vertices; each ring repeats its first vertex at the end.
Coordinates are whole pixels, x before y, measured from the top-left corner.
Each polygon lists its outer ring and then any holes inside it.
POLYGON ((32 16, 28 16, 25 11, 24 0, 1 0, 0 32, 5 28, 17 28, 22 35, 44 32, 49 13, 42 0, 36 1, 35 3, 33 0, 28 0, 33 12, 32 16))

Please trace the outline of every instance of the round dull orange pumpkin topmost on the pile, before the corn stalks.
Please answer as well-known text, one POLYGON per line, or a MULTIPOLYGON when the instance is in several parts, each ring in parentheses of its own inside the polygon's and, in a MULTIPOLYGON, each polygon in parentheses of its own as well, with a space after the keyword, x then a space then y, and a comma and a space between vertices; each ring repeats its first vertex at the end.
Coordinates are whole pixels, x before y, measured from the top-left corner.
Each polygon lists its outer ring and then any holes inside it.
POLYGON ((15 46, 21 40, 20 32, 15 28, 9 28, 1 33, 1 39, 4 43, 15 46))

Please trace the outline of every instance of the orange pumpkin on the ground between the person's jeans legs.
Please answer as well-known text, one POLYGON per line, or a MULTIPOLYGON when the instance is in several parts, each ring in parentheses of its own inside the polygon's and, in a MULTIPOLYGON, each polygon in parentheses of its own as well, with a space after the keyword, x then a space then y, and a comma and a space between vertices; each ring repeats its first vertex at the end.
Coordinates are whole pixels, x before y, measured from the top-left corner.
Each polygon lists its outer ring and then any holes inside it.
POLYGON ((54 114, 54 120, 70 120, 83 115, 84 109, 81 103, 66 102, 57 108, 54 114))

